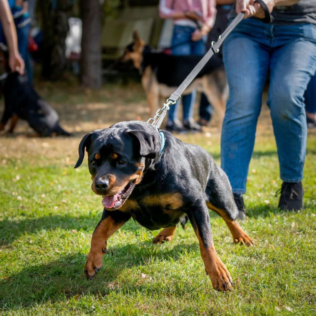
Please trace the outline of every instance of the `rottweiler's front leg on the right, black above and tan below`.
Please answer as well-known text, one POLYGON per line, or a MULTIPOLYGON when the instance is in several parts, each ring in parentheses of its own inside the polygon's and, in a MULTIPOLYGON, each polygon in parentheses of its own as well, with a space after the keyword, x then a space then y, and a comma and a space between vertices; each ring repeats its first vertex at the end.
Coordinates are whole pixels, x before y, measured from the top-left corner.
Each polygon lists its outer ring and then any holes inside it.
POLYGON ((213 288, 218 291, 230 291, 233 284, 232 278, 216 253, 207 207, 201 202, 195 210, 187 214, 199 240, 205 271, 210 276, 213 288))

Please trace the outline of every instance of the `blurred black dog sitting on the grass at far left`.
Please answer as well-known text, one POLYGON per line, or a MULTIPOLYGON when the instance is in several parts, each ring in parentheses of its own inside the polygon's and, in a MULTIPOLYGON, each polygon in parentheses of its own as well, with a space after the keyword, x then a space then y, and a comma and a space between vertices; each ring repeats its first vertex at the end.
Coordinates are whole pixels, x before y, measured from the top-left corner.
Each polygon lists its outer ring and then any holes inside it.
POLYGON ((8 132, 12 133, 18 119, 24 119, 36 132, 36 136, 70 136, 70 133, 60 127, 57 112, 30 85, 27 75, 9 72, 7 78, 1 80, 1 88, 5 109, 0 121, 0 131, 4 130, 11 119, 8 132))

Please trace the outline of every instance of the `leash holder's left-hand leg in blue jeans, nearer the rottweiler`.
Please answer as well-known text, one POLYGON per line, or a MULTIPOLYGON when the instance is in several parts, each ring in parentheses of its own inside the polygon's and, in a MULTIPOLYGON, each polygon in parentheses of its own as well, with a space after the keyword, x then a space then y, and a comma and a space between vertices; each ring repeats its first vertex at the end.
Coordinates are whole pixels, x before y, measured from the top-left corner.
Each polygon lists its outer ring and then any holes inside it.
POLYGON ((229 99, 222 127, 221 167, 228 175, 233 193, 246 192, 248 167, 269 68, 264 28, 261 21, 244 20, 224 42, 223 61, 229 99))

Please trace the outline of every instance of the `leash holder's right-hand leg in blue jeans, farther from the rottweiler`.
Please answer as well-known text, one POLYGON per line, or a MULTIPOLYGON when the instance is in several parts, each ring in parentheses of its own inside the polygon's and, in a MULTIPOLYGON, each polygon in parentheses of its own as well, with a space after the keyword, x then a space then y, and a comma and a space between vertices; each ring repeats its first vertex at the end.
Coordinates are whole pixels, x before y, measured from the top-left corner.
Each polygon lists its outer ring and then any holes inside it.
POLYGON ((267 104, 276 138, 280 177, 284 183, 298 183, 303 178, 307 135, 303 95, 316 69, 316 27, 312 24, 279 26, 275 38, 276 44, 284 44, 276 46, 271 55, 267 104))

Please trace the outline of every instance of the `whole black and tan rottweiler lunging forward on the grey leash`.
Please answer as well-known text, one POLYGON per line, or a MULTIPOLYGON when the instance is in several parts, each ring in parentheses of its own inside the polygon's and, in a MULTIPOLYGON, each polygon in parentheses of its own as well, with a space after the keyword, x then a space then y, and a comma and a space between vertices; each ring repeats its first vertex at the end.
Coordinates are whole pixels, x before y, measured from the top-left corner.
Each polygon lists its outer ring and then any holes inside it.
POLYGON ((85 149, 92 191, 103 197, 104 207, 84 267, 89 279, 102 267, 108 238, 131 217, 148 229, 163 228, 155 244, 172 240, 177 224, 189 219, 213 288, 231 290, 232 278, 212 240, 208 208, 224 219, 234 243, 252 246, 253 241, 234 222, 238 210, 228 177, 206 150, 141 121, 85 135, 75 168, 85 149))

